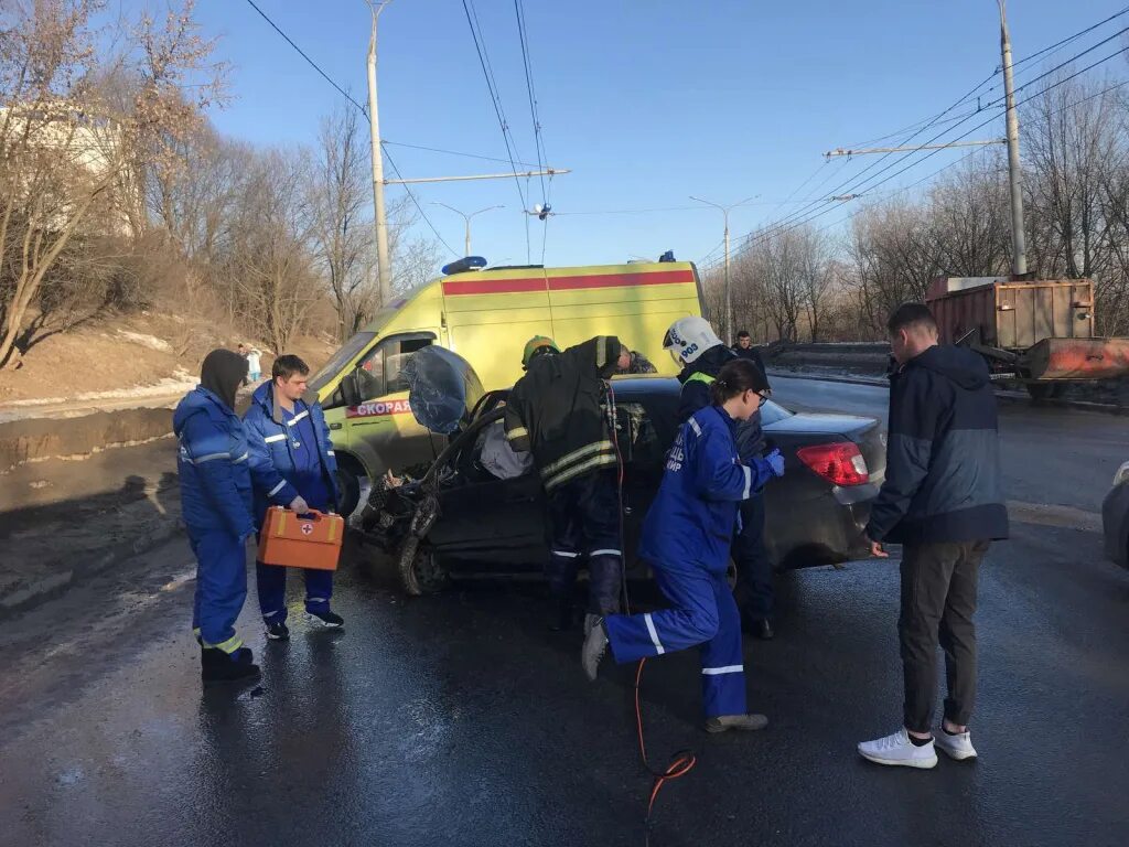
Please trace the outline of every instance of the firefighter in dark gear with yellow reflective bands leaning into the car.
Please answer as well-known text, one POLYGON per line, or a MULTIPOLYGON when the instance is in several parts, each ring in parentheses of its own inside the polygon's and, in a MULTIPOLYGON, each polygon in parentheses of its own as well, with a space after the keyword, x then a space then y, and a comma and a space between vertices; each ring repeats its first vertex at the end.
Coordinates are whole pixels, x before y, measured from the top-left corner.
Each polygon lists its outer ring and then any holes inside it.
POLYGON ((601 403, 604 379, 627 367, 628 359, 614 335, 564 351, 552 339, 531 339, 522 359, 525 376, 506 402, 506 438, 515 451, 533 453, 549 504, 554 629, 571 622, 581 556, 588 559, 586 628, 620 608, 618 459, 601 403))

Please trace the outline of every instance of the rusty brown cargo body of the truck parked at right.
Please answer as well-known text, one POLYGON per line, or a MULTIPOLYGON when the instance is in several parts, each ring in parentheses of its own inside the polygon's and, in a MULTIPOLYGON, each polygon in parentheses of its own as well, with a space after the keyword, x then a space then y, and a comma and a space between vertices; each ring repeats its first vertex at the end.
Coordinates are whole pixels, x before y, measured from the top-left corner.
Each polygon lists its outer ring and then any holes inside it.
POLYGON ((1010 282, 994 277, 934 280, 926 302, 942 341, 970 334, 1001 350, 1029 350, 1044 339, 1094 338, 1094 283, 1088 279, 1010 282))

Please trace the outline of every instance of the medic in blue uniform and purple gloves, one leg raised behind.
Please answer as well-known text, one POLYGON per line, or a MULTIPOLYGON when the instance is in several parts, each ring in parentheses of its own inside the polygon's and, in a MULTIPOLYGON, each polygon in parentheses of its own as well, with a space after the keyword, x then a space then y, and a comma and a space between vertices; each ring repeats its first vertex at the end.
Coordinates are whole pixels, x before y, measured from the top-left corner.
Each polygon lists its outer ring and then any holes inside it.
POLYGON ((773 451, 743 464, 737 451, 737 421, 754 414, 768 391, 756 367, 732 361, 710 388, 712 405, 682 426, 667 454, 639 543, 639 557, 651 566, 673 608, 607 615, 588 634, 581 661, 595 680, 609 644, 619 663, 701 645, 706 728, 760 730, 768 719, 746 710, 741 614, 726 565, 738 504, 784 475, 784 459, 773 451))

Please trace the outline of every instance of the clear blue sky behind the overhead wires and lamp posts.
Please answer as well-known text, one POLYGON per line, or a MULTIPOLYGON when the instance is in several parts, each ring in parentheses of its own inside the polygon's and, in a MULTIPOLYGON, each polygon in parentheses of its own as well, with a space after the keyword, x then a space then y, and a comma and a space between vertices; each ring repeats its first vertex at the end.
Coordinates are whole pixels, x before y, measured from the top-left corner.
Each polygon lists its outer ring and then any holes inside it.
MULTIPOLYGON (((364 0, 256 2, 365 102, 364 0)), ((534 160, 514 3, 475 5, 517 149, 534 160)), ((1012 0, 1016 59, 1123 6, 1123 0, 1012 0)), ((733 212, 735 235, 779 219, 797 208, 779 201, 807 198, 833 168, 839 173, 826 190, 869 164, 858 158, 824 164, 823 151, 931 116, 999 61, 994 0, 525 0, 525 10, 548 158, 572 169, 552 181, 552 207, 561 213, 548 224, 548 264, 618 262, 666 250, 698 261, 720 242, 721 216, 708 208, 682 208, 694 206, 690 194, 721 203, 759 195, 733 212), (564 213, 668 207, 674 209, 564 213)), ((234 99, 212 115, 216 125, 260 145, 312 142, 321 116, 338 106, 340 95, 246 0, 200 0, 199 18, 205 34, 220 37, 219 54, 234 66, 234 99)), ((1050 63, 1127 21, 1108 25, 1051 56, 1050 63)), ((385 139, 505 157, 462 0, 395 0, 380 24, 385 139)), ((1031 77, 1047 67, 1032 62, 1024 70, 1031 77)), ((1124 66, 1113 61, 1108 67, 1120 73, 1124 66)), ((1023 79, 1021 75, 1018 81, 1023 79)), ((989 129, 978 137, 1001 133, 989 129)), ((405 148, 393 147, 392 152, 408 176, 508 169, 405 148)), ((959 156, 945 151, 884 187, 904 185, 959 156)), ((504 203, 504 210, 475 219, 474 252, 491 263, 525 261, 525 219, 513 180, 415 191, 458 252, 462 219, 431 203, 466 211, 504 203)), ((531 192, 531 204, 540 202, 536 181, 531 192)), ((843 207, 819 222, 849 211, 843 207)), ((541 260, 544 226, 534 220, 530 228, 534 262, 541 260)), ((427 232, 422 222, 418 228, 427 232)), ((445 251, 445 256, 450 254, 445 251)))

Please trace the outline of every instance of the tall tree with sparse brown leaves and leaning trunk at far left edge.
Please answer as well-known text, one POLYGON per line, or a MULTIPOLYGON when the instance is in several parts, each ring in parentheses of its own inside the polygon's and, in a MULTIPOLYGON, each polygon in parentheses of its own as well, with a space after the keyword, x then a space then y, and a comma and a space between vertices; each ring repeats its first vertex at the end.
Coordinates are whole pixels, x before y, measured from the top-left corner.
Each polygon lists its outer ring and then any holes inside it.
MULTIPOLYGON (((99 59, 91 18, 98 0, 12 1, 0 7, 0 364, 15 367, 16 340, 44 280, 76 238, 122 233, 137 197, 137 151, 198 125, 219 90, 212 45, 196 34, 192 0, 157 26, 143 16, 120 55, 99 59), (98 82, 129 67, 129 111, 98 82), (195 82, 195 73, 203 81, 195 82), (189 89, 189 79, 193 87, 189 89), (191 99, 184 91, 192 90, 191 99)), ((172 160, 175 150, 152 148, 172 160)))

